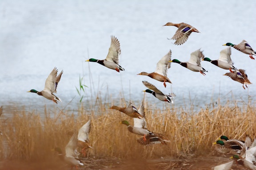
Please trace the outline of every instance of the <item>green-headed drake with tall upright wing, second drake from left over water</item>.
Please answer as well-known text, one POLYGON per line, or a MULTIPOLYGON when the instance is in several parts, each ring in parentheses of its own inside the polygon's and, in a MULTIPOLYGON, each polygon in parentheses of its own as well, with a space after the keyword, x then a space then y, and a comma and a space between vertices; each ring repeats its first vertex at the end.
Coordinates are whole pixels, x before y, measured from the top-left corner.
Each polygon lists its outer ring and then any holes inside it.
POLYGON ((111 44, 108 49, 108 55, 104 60, 98 60, 94 58, 90 58, 86 60, 86 62, 97 62, 109 69, 116 70, 117 72, 124 71, 119 65, 119 55, 121 54, 120 42, 115 36, 111 36, 111 44))

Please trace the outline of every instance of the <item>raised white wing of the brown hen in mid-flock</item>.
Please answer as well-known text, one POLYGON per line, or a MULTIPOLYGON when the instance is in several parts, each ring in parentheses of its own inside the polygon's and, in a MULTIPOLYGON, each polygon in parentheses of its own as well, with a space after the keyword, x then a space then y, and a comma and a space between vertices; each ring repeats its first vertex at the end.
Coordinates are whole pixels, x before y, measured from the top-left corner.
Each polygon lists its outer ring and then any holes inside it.
POLYGON ((167 77, 167 70, 171 66, 171 62, 168 62, 168 61, 171 61, 171 57, 172 57, 172 51, 170 50, 168 54, 166 54, 163 58, 160 59, 159 62, 157 62, 155 73, 158 73, 162 76, 167 77))

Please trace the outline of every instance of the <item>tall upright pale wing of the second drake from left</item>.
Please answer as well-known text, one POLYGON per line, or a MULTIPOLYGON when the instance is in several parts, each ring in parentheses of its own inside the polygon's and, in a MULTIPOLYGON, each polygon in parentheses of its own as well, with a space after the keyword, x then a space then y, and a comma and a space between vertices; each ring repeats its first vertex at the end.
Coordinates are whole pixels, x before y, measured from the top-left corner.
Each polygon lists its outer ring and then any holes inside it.
POLYGON ((119 55, 121 54, 120 42, 115 36, 111 36, 111 44, 108 49, 106 60, 119 64, 119 55))

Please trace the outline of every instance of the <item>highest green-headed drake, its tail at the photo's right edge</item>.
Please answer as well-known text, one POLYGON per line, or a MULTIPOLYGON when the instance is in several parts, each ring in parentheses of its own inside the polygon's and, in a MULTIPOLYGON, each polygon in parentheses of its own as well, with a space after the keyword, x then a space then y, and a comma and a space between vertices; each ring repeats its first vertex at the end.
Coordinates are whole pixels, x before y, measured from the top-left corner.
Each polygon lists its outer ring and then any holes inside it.
POLYGON ((228 42, 228 43, 224 44, 223 46, 232 46, 236 50, 239 50, 239 51, 243 52, 244 54, 249 54, 249 57, 252 58, 253 60, 255 59, 252 57, 252 55, 256 55, 256 51, 253 50, 252 47, 248 44, 248 42, 246 42, 245 40, 243 40, 242 42, 240 42, 237 45, 228 42))

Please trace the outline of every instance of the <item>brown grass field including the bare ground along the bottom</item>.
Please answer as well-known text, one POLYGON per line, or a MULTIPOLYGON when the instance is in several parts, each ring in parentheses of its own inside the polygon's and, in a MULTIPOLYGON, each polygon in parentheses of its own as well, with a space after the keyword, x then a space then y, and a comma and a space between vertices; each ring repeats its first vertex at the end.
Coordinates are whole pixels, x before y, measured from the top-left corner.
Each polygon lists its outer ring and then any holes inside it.
MULTIPOLYGON (((120 103, 126 105, 124 100, 120 103)), ((128 120, 133 125, 132 118, 108 109, 112 104, 101 100, 89 107, 80 105, 76 112, 45 106, 44 116, 8 108, 12 114, 0 117, 0 169, 70 169, 51 150, 60 147, 64 151, 72 133, 89 119, 93 149, 82 158, 84 166, 80 170, 208 170, 231 161, 213 151, 212 143, 220 135, 236 139, 244 139, 245 135, 256 137, 256 108, 251 102, 238 106, 235 101, 227 101, 224 106, 212 104, 196 112, 193 107, 175 108, 166 103, 157 108, 150 102, 144 103, 148 129, 164 134, 171 143, 140 145, 136 139, 141 136, 119 124, 128 120)), ((139 107, 141 103, 134 104, 139 107)), ((232 167, 244 169, 236 163, 232 167)))

